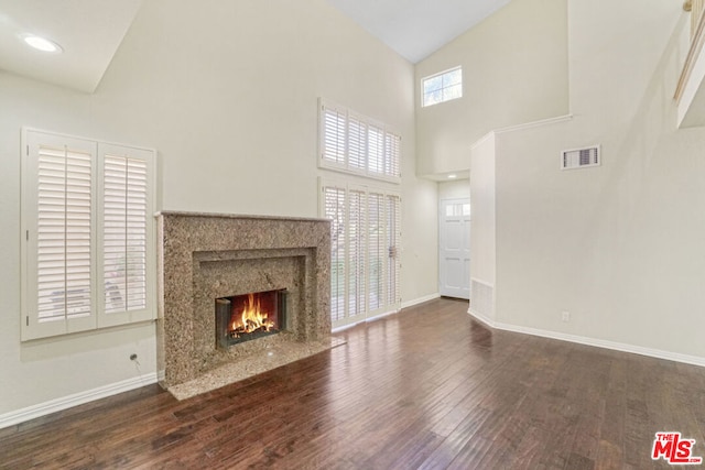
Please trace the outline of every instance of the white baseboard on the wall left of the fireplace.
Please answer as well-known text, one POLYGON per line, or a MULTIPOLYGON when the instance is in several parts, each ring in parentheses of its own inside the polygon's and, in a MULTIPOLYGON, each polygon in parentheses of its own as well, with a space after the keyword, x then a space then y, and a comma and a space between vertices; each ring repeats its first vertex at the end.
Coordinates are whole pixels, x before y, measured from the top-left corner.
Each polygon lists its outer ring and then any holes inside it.
POLYGON ((153 383, 156 383, 155 372, 6 413, 0 415, 0 429, 153 383))

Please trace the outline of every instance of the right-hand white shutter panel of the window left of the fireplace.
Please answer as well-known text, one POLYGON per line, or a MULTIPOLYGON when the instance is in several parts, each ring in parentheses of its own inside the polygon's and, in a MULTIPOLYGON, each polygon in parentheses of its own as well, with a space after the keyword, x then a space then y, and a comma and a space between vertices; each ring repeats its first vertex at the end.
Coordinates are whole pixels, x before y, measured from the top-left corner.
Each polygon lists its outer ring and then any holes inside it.
POLYGON ((149 152, 101 144, 101 325, 134 320, 148 308, 151 233, 149 152), (122 315, 119 315, 122 314, 122 315))

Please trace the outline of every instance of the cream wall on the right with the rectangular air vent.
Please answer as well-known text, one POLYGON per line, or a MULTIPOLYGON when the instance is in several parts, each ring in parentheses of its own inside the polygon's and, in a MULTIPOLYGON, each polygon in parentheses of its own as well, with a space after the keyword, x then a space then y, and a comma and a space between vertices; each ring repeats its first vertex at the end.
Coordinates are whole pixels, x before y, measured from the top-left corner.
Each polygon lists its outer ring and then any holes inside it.
POLYGON ((687 18, 660 0, 568 13, 574 119, 497 139, 496 320, 705 363, 705 130, 676 130, 672 99, 687 18), (601 166, 560 170, 595 143, 601 166))

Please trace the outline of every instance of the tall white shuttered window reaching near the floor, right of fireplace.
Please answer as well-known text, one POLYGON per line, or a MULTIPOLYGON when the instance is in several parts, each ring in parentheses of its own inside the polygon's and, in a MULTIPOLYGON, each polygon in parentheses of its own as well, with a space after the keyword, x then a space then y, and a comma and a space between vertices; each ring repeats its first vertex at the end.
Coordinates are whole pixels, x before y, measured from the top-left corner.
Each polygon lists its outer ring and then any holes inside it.
POLYGON ((333 326, 399 309, 401 198, 325 181, 321 192, 322 216, 332 220, 333 326))

